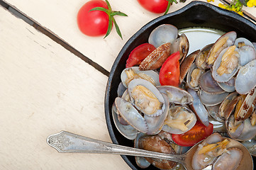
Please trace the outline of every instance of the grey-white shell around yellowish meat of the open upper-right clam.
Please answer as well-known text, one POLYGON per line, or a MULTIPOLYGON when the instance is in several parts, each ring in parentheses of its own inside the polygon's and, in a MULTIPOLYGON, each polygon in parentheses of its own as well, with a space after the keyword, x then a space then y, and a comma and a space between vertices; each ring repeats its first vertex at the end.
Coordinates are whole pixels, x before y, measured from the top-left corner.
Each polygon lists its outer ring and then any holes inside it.
MULTIPOLYGON (((223 75, 219 75, 217 73, 217 69, 221 66, 221 60, 222 57, 224 55, 224 53, 228 50, 228 47, 225 48, 224 50, 221 51, 220 55, 218 55, 216 61, 213 64, 213 68, 212 68, 212 76, 213 79, 215 79, 218 82, 227 82, 228 80, 232 79, 233 76, 238 72, 238 70, 240 69, 240 60, 239 60, 239 56, 238 56, 238 65, 235 67, 235 69, 233 70, 233 72, 231 72, 230 74, 226 74, 224 73, 223 75)), ((238 49, 236 49, 238 51, 238 49)))

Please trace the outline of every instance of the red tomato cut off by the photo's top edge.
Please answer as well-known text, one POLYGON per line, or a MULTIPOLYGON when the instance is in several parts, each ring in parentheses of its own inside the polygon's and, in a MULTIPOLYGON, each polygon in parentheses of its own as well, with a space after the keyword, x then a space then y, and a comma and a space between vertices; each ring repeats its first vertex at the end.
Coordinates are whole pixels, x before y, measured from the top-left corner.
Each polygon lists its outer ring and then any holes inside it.
POLYGON ((164 13, 168 6, 167 0, 138 0, 138 2, 152 13, 164 13))

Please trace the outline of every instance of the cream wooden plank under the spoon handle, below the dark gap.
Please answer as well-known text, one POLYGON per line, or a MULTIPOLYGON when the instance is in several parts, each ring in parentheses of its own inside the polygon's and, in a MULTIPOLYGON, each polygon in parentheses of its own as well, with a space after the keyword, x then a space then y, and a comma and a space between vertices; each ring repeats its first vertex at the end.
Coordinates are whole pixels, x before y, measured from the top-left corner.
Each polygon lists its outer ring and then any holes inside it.
POLYGON ((108 77, 1 6, 0 16, 0 169, 130 169, 118 155, 47 145, 60 130, 111 142, 108 77))

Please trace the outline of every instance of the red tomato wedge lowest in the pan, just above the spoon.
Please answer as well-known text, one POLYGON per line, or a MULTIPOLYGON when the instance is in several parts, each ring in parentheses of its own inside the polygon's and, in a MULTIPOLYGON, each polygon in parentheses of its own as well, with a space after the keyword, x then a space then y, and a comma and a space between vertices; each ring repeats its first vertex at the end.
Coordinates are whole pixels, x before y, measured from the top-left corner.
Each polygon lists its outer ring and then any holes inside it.
POLYGON ((172 140, 177 143, 177 145, 183 147, 191 147, 195 145, 197 142, 206 139, 206 137, 210 136, 213 133, 213 124, 209 123, 206 127, 199 120, 196 121, 191 130, 185 132, 181 135, 172 134, 172 140))

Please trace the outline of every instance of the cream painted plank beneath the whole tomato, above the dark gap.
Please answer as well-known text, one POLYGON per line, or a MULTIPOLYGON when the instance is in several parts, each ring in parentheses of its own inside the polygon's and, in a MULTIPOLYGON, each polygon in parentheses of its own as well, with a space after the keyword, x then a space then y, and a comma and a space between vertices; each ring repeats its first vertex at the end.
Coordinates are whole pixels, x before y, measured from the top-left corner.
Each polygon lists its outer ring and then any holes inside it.
MULTIPOLYGON (((110 71, 111 66, 116 59, 126 41, 136 33, 146 23, 162 14, 155 14, 146 11, 138 4, 136 0, 111 0, 113 10, 122 11, 128 17, 116 16, 118 26, 123 33, 123 40, 118 37, 116 30, 112 30, 111 34, 103 39, 103 37, 91 38, 83 35, 77 28, 77 11, 87 2, 84 0, 4 0, 9 4, 16 6, 18 10, 26 13, 27 16, 33 18, 45 28, 48 28, 63 40, 67 41, 74 48, 82 52, 94 62, 97 62, 106 70, 110 71), (99 50, 100 47, 100 50, 99 50)), ((177 11, 186 3, 174 4, 169 12, 177 11)), ((206 1, 206 0, 202 0, 206 1)), ((220 1, 211 2, 218 6, 220 1)), ((254 12, 256 16, 256 11, 254 12)))

